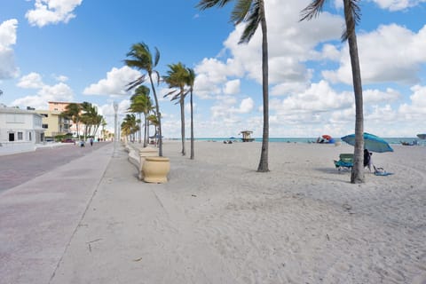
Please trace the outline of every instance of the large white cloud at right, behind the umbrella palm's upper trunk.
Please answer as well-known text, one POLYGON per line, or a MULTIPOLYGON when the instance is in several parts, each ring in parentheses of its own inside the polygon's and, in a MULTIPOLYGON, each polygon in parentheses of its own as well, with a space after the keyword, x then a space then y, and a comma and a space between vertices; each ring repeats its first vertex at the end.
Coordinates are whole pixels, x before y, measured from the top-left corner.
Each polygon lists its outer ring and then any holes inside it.
MULTIPOLYGON (((359 62, 363 83, 418 83, 420 65, 426 61, 426 26, 417 34, 391 24, 360 34, 359 62)), ((327 80, 351 84, 349 49, 344 45, 340 67, 322 74, 327 80)))

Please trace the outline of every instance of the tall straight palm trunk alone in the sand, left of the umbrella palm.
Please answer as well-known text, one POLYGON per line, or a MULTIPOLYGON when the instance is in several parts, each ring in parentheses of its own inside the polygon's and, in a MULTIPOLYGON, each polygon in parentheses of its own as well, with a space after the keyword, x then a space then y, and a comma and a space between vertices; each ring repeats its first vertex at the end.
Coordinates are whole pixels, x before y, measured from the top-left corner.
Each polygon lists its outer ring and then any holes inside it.
POLYGON ((269 171, 268 152, 269 152, 269 88, 268 88, 268 36, 266 20, 264 17, 264 1, 260 0, 261 26, 262 26, 262 91, 264 100, 264 131, 262 136, 262 152, 257 171, 269 171))

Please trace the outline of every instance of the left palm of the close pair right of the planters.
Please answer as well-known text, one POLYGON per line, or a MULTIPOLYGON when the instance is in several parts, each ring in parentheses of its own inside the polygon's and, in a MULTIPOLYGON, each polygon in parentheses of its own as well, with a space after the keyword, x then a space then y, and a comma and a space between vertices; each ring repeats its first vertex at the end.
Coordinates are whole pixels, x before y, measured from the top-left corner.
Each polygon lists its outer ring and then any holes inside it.
POLYGON ((185 96, 187 94, 187 91, 185 92, 185 84, 188 81, 188 70, 186 69, 185 65, 180 62, 177 64, 169 64, 168 67, 170 68, 170 70, 167 71, 167 75, 163 76, 162 79, 165 83, 169 84, 170 89, 176 89, 164 95, 164 98, 170 95, 174 95, 173 97, 171 97, 170 100, 173 101, 178 99, 178 103, 180 106, 180 133, 182 138, 182 155, 185 156, 185 96))

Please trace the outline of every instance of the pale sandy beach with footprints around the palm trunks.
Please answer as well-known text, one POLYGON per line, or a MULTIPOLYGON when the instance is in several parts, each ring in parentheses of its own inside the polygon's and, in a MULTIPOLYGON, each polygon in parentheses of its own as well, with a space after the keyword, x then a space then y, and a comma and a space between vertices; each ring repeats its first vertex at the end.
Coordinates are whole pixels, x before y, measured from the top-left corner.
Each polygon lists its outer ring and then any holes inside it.
POLYGON ((51 283, 426 283, 426 147, 352 185, 348 145, 271 143, 268 173, 256 142, 180 146, 169 183, 94 196, 51 283))

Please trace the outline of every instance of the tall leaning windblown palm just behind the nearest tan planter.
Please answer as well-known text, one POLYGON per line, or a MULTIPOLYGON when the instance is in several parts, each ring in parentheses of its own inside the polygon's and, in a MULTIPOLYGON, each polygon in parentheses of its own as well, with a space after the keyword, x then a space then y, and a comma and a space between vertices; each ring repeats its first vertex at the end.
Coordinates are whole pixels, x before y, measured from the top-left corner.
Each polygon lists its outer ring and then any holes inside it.
MULTIPOLYGON (((158 120, 158 132, 159 132, 159 155, 162 156, 162 115, 160 113, 160 106, 158 104, 157 93, 154 88, 153 81, 153 73, 157 76, 157 84, 160 83, 160 74, 154 70, 154 67, 157 66, 158 61, 160 60, 160 51, 155 48, 154 58, 151 51, 149 51, 148 45, 146 43, 135 43, 131 46, 130 51, 126 54, 127 57, 131 59, 125 59, 124 62, 128 67, 135 67, 138 70, 145 70, 149 82, 151 83, 151 88, 154 92, 154 100, 155 100, 155 114, 157 115, 158 120)), ((137 87, 138 85, 144 83, 146 81, 146 75, 141 75, 133 82, 130 82, 128 91, 137 87)))

